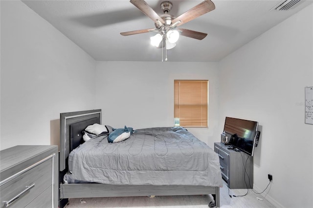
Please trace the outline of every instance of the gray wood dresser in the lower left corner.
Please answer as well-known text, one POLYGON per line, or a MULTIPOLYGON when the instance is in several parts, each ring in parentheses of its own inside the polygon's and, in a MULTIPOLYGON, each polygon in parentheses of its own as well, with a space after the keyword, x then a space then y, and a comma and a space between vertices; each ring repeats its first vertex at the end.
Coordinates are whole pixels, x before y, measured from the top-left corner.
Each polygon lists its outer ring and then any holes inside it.
POLYGON ((0 208, 58 207, 58 146, 0 151, 0 208))

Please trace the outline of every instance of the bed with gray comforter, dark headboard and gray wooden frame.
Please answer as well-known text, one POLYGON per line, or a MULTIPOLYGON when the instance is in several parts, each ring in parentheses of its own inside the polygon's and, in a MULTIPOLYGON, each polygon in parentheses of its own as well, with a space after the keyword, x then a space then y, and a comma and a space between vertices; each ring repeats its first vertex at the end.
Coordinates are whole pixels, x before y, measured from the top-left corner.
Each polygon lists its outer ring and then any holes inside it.
POLYGON ((60 201, 212 194, 215 206, 220 207, 222 178, 218 155, 186 129, 135 129, 123 142, 109 144, 108 135, 84 142, 82 132, 92 124, 101 124, 101 109, 60 114, 60 181, 68 168, 76 180, 60 183, 60 201), (85 158, 77 159, 79 155, 85 158))

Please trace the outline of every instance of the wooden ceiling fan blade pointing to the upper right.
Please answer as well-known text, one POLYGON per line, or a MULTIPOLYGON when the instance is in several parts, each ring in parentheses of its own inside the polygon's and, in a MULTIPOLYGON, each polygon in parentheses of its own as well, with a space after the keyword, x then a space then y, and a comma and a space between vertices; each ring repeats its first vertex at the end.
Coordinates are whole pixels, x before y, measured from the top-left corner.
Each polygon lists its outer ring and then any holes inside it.
POLYGON ((192 21, 192 20, 196 19, 197 17, 200 17, 201 15, 208 13, 214 9, 215 9, 215 5, 211 0, 204 0, 200 4, 198 4, 197 6, 191 8, 187 12, 185 12, 182 15, 180 15, 179 17, 175 18, 172 21, 172 24, 174 24, 177 21, 181 21, 176 26, 182 25, 182 24, 184 24, 188 21, 192 21))

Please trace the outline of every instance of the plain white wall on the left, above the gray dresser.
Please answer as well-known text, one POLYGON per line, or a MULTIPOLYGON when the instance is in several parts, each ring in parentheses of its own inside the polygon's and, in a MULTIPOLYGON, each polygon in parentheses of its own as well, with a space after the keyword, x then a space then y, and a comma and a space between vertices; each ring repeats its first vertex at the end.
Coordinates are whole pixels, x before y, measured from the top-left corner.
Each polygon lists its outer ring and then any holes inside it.
POLYGON ((94 107, 95 61, 21 1, 0 3, 0 148, 58 144, 60 113, 94 107))

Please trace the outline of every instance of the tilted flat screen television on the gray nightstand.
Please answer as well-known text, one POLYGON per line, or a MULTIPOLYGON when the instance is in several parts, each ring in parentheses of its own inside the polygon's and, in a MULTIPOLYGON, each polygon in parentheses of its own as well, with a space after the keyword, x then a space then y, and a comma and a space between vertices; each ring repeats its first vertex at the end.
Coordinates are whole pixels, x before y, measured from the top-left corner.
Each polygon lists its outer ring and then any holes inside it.
POLYGON ((228 138, 230 138, 228 141, 229 145, 253 156, 258 132, 258 122, 226 117, 224 132, 228 135, 228 138), (232 135, 234 136, 231 137, 232 135))

